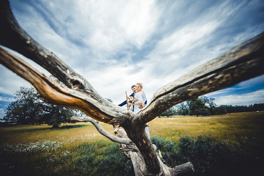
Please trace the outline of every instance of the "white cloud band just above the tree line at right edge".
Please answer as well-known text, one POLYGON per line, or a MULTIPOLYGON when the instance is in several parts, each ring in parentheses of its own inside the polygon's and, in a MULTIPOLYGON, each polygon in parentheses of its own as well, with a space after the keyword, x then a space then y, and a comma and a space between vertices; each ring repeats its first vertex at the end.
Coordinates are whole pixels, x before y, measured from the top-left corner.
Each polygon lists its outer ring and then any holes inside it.
POLYGON ((264 89, 260 89, 247 94, 233 94, 223 97, 217 97, 216 99, 217 105, 249 105, 255 103, 264 103, 264 89))

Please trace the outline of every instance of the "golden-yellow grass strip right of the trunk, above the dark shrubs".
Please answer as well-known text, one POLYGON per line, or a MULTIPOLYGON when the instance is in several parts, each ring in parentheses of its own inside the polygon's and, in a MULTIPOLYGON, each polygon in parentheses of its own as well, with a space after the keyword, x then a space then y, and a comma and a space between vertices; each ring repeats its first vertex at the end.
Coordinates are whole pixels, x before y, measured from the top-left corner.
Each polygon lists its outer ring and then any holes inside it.
POLYGON ((178 141, 181 136, 211 134, 217 140, 236 141, 242 136, 263 136, 264 111, 218 116, 173 116, 155 118, 149 122, 150 135, 178 141))

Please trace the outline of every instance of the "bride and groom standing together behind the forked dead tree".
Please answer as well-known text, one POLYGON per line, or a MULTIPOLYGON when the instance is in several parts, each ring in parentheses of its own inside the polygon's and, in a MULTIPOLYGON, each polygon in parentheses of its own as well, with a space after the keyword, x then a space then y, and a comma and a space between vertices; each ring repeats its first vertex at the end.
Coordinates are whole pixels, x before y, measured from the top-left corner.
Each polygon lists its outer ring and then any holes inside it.
MULTIPOLYGON (((144 93, 143 84, 141 82, 137 82, 135 85, 131 86, 131 89, 133 93, 130 95, 130 97, 134 97, 136 101, 130 105, 133 106, 134 113, 138 113, 140 109, 142 109, 147 104, 147 97, 144 93)), ((127 104, 127 101, 124 101, 123 103, 119 104, 118 106, 123 106, 127 104)), ((145 131, 147 135, 149 136, 149 127, 147 126, 145 128, 145 131)))

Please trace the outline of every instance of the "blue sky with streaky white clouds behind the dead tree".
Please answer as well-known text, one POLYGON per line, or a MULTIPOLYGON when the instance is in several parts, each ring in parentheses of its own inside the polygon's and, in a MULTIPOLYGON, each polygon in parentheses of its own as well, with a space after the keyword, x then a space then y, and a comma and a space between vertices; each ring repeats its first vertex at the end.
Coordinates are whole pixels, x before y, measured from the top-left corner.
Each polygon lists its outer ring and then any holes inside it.
MULTIPOLYGON (((21 27, 95 90, 120 104, 160 87, 264 31, 264 1, 10 0, 21 27)), ((23 58, 45 75, 50 73, 23 58)), ((0 118, 31 84, 0 65, 0 118)), ((216 104, 264 103, 264 75, 206 94, 216 104)))

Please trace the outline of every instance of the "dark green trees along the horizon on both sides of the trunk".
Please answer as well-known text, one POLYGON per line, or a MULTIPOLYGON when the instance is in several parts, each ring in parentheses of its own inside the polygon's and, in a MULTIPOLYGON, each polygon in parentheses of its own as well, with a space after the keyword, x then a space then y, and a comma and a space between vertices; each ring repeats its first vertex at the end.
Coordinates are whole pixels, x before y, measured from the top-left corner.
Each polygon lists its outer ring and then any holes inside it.
MULTIPOLYGON (((50 78, 65 87, 65 85, 53 75, 51 75, 50 78)), ((80 110, 60 107, 47 103, 41 97, 41 95, 37 93, 34 87, 20 87, 20 89, 16 91, 14 98, 16 101, 13 101, 11 104, 9 104, 5 110, 5 116, 3 119, 1 119, 8 123, 36 125, 48 124, 53 126, 53 128, 58 128, 61 123, 63 123, 63 126, 67 123, 75 123, 75 121, 70 120, 72 116, 85 116, 85 114, 80 110)), ((112 99, 105 99, 113 102, 112 99)), ((254 105, 251 104, 249 106, 217 106, 215 103, 215 98, 201 96, 199 98, 187 100, 186 103, 183 102, 172 106, 159 116, 169 117, 173 115, 196 115, 198 117, 199 115, 208 116, 251 111, 264 111, 264 103, 254 105)))

